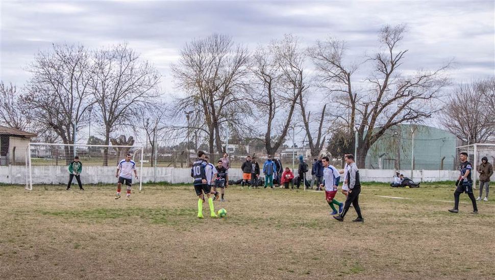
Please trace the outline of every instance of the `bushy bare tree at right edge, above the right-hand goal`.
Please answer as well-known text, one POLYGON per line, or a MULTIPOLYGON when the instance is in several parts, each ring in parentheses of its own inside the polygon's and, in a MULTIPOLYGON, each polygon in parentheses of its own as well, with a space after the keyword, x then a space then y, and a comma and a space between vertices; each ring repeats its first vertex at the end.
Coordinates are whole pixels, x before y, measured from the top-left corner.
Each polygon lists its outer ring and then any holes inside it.
POLYGON ((495 115, 490 104, 494 95, 493 80, 458 85, 442 109, 442 125, 468 144, 495 138, 495 115))

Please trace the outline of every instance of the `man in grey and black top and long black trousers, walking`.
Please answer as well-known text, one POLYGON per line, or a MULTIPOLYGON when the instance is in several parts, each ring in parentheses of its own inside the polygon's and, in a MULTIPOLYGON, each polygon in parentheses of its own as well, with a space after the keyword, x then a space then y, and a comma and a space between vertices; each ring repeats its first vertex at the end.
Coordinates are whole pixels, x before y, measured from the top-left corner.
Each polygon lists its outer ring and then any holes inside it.
POLYGON ((359 207, 359 193, 361 192, 361 182, 359 181, 359 170, 354 162, 354 155, 348 154, 345 156, 345 162, 348 164, 347 173, 347 185, 349 186, 349 192, 347 199, 345 200, 344 210, 338 216, 333 216, 338 221, 343 221, 344 216, 349 211, 351 203, 358 214, 358 217, 353 221, 364 222, 363 216, 361 216, 361 208, 359 207))

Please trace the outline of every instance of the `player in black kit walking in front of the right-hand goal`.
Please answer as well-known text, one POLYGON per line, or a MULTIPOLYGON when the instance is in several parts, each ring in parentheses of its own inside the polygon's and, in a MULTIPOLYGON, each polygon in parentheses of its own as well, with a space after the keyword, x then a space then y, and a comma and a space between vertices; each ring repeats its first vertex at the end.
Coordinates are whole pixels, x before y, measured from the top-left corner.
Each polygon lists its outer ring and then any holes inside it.
POLYGON ((461 193, 467 193, 469 199, 473 203, 473 214, 478 214, 478 207, 476 206, 476 199, 473 194, 473 180, 471 179, 471 162, 467 161, 467 153, 460 153, 459 158, 461 159, 460 165, 460 176, 456 182, 456 191, 454 192, 454 209, 449 209, 449 212, 457 213, 459 212, 459 197, 461 193))

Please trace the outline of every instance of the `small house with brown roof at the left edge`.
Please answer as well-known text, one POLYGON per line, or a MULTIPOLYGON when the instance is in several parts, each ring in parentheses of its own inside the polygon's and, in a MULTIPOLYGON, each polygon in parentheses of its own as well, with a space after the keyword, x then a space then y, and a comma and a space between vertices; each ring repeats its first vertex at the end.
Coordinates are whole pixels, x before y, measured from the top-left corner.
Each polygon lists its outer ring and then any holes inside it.
POLYGON ((35 133, 0 125, 0 165, 26 162, 26 150, 35 133))

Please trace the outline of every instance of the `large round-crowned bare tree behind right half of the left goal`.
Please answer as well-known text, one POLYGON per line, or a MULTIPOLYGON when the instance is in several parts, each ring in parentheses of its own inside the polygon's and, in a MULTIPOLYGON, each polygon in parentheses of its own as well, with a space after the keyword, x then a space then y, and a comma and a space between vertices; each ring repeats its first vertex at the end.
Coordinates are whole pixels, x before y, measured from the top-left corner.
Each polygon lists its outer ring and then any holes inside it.
MULTIPOLYGON (((120 125, 136 121, 133 111, 159 96, 160 74, 127 44, 95 51, 93 56, 89 86, 97 107, 94 114, 103 125, 102 134, 108 145, 111 133, 120 125)), ((108 148, 104 149, 103 165, 108 165, 108 148)))

